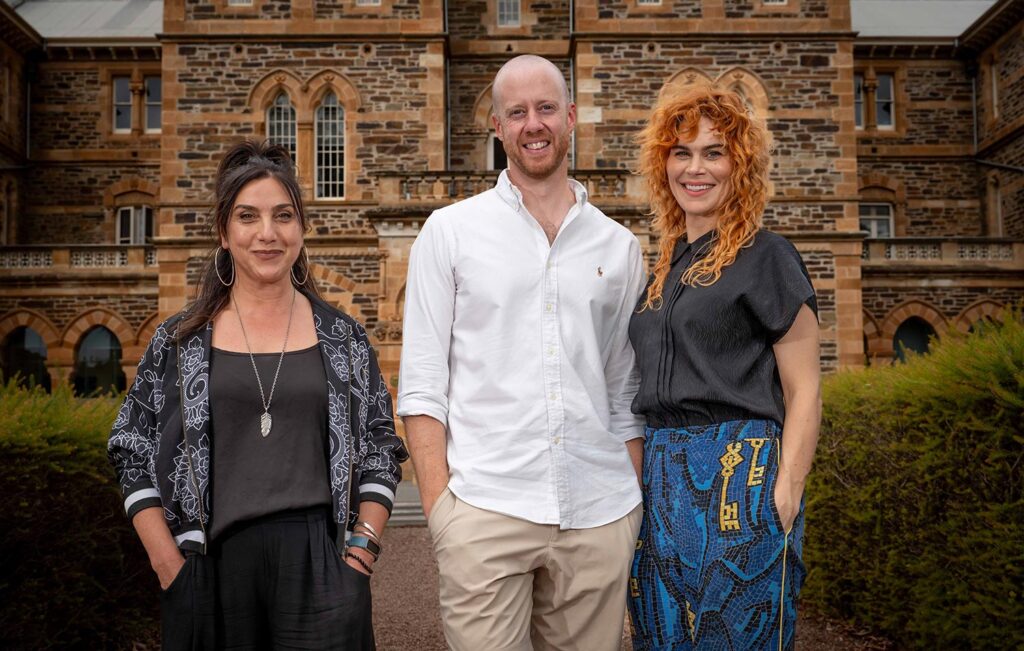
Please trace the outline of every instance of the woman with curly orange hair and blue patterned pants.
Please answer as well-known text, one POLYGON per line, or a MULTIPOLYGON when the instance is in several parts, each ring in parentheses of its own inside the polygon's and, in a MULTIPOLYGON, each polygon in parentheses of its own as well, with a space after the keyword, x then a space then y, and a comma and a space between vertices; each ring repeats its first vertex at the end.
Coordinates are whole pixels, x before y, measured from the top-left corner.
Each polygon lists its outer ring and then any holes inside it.
POLYGON ((699 87, 666 94, 640 146, 660 243, 630 323, 647 421, 634 648, 790 648, 820 371, 810 276, 761 229, 768 133, 699 87))

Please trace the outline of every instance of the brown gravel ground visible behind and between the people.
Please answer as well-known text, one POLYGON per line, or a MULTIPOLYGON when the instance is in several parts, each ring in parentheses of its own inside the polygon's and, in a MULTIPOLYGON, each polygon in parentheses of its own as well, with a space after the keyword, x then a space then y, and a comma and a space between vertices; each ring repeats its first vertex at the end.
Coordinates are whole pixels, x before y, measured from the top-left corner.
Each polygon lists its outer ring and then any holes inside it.
MULTIPOLYGON (((389 527, 375 568, 374 630, 381 651, 443 651, 437 605, 437 566, 426 527, 389 527)), ((623 651, 631 649, 623 640, 623 651)), ((886 641, 800 613, 797 651, 887 651, 886 641)))

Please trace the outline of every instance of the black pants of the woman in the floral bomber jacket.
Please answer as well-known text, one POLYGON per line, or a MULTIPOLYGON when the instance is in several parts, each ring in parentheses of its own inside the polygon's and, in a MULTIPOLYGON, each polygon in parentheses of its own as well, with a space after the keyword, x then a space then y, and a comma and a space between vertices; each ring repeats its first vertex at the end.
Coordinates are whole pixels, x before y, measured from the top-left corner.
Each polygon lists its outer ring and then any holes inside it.
POLYGON ((164 651, 375 648, 370 577, 326 509, 273 514, 189 556, 161 595, 164 651))

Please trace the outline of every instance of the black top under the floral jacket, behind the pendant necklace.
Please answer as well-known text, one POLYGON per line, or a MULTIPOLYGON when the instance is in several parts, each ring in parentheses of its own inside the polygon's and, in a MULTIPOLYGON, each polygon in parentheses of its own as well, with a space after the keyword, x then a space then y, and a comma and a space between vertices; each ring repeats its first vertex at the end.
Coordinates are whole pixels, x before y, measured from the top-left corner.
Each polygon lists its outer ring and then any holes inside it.
MULTIPOLYGON (((255 355, 269 395, 281 353, 255 355)), ((213 349, 210 359, 210 539, 260 516, 331 505, 327 374, 319 346, 285 353, 270 402, 273 425, 260 434, 259 386, 249 353, 213 349)))

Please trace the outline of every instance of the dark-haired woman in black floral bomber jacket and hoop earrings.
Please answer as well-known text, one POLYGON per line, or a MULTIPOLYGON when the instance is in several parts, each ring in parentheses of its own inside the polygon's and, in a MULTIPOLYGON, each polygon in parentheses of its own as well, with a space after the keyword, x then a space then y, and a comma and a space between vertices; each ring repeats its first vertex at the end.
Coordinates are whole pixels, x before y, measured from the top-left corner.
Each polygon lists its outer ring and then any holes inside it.
POLYGON ((372 649, 369 575, 408 457, 364 328, 321 299, 288 151, 232 147, 196 299, 109 450, 162 589, 163 648, 372 649))

